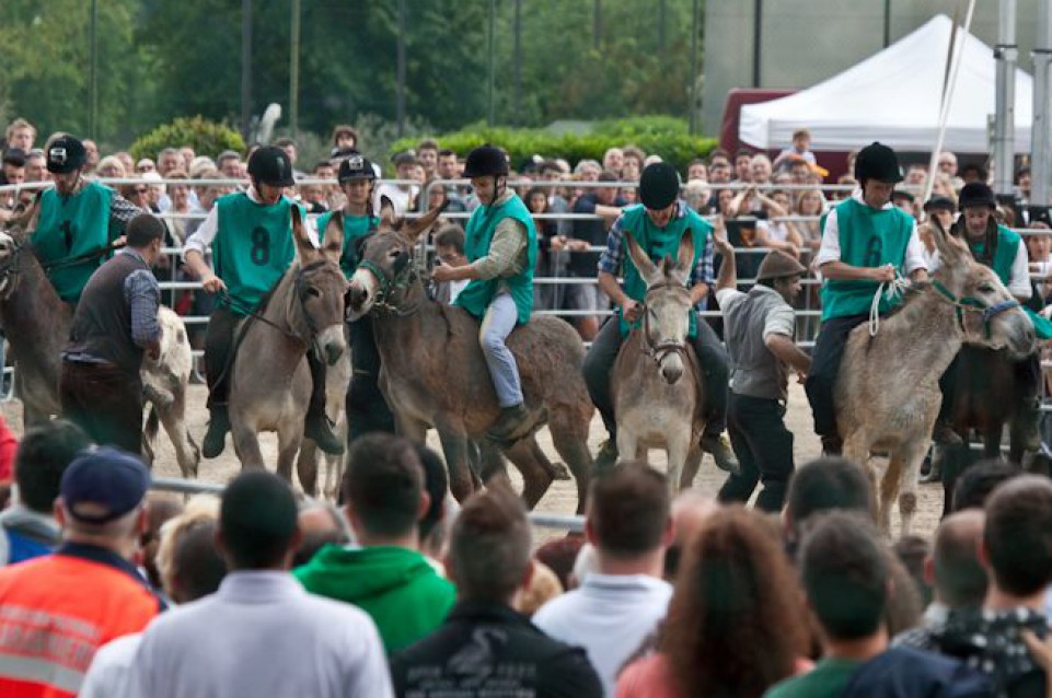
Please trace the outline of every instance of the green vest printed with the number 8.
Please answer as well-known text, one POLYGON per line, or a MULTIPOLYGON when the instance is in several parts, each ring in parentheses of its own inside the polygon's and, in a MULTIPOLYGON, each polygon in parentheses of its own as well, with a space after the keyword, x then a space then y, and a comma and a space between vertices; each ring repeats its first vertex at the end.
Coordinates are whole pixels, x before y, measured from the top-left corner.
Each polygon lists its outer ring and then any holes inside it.
MULTIPOLYGON (((292 201, 281 197, 263 206, 239 191, 220 197, 219 230, 212 241, 216 276, 227 284, 230 300, 220 299, 235 315, 246 315, 286 272, 296 258, 292 201)), ((305 213, 302 213, 304 220, 305 213)))

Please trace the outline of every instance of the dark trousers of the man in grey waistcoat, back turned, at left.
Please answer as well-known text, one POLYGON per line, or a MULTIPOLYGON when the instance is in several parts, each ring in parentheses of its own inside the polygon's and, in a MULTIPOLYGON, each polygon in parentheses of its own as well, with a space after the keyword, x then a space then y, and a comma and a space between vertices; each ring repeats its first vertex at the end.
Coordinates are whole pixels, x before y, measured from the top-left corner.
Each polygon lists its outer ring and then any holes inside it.
POLYGON ((62 417, 91 440, 142 453, 142 382, 112 363, 63 361, 59 382, 62 417))

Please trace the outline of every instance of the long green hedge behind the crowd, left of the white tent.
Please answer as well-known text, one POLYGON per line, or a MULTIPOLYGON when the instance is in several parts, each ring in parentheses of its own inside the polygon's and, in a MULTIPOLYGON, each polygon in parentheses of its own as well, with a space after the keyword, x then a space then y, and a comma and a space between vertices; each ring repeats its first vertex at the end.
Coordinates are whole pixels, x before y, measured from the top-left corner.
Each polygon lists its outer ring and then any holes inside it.
MULTIPOLYGON (((392 153, 415 148, 419 139, 402 139, 392 153)), ((647 154, 656 153, 677 168, 705 156, 716 148, 716 139, 687 133, 686 123, 669 116, 640 116, 597 121, 583 133, 556 132, 539 128, 487 128, 482 125, 444 133, 436 138, 442 148, 464 156, 472 148, 493 143, 508 151, 513 167, 521 167, 533 155, 566 158, 571 164, 583 159, 602 162, 608 148, 636 146, 647 154)))

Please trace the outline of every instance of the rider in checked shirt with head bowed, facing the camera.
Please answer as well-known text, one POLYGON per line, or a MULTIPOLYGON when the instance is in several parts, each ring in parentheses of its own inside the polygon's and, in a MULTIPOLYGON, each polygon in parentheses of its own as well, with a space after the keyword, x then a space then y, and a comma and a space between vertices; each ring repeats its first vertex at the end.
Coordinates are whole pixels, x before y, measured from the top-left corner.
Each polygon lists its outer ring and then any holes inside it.
MULTIPOLYGON (((663 162, 647 165, 639 177, 641 203, 624 209, 614 221, 606 237, 606 249, 599 259, 599 288, 619 306, 620 319, 602 326, 581 367, 588 393, 610 433, 610 440, 597 457, 597 465, 609 465, 617 459, 617 426, 610 399, 610 373, 628 334, 629 323, 641 316, 647 292, 646 281, 635 265, 624 264, 625 233, 632 233, 651 259, 661 259, 664 255, 675 258, 680 239, 690 229, 694 235, 694 263, 687 286, 691 300, 698 310, 714 281, 713 226, 680 200, 679 194, 680 178, 672 165, 663 162), (619 274, 624 276, 624 291, 617 284, 619 274)), ((727 350, 708 323, 694 313, 691 313, 690 323, 691 344, 705 375, 704 400, 708 411, 701 445, 713 454, 717 466, 735 472, 738 469, 735 454, 720 435, 727 420, 727 350)))

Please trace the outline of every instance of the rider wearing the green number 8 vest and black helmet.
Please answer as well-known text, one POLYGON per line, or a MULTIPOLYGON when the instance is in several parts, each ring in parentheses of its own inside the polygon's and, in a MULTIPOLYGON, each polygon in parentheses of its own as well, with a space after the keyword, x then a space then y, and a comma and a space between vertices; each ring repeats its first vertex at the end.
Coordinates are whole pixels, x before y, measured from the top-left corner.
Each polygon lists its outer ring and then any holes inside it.
MULTIPOLYGON (((294 185, 288 155, 280 148, 256 150, 248 159, 248 190, 221 197, 197 232, 187 239, 183 252, 186 267, 200 279, 205 291, 222 292, 205 335, 209 421, 201 452, 206 458, 223 452, 230 430, 227 395, 236 326, 259 310, 261 302, 296 257, 290 212, 293 203, 282 195, 285 187, 294 185), (215 255, 215 271, 205 261, 209 246, 215 255)), ((313 350, 307 352, 307 359, 314 386, 303 433, 325 453, 343 453, 344 444, 325 416, 325 362, 313 350)))

